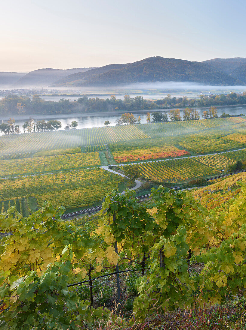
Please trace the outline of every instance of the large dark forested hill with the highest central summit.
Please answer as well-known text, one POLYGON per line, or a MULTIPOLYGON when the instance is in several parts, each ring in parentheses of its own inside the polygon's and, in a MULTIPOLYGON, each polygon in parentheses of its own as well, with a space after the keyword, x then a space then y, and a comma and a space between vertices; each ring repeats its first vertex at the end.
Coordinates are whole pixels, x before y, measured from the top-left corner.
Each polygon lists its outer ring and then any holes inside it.
POLYGON ((107 65, 67 76, 56 86, 110 86, 136 82, 196 82, 208 85, 244 85, 229 75, 201 62, 160 56, 144 60, 107 65))

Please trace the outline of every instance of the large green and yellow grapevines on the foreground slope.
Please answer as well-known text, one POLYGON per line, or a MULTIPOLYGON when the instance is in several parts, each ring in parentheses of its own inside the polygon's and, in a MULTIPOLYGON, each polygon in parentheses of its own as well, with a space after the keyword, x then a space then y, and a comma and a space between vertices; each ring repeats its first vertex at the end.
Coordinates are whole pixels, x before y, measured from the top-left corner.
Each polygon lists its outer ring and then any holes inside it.
POLYGON ((63 208, 49 202, 29 217, 10 208, 0 215, 1 233, 9 234, 0 246, 1 324, 92 330, 133 324, 144 329, 152 322, 148 328, 156 330, 160 324, 170 329, 174 315, 179 326, 174 329, 243 329, 235 323, 240 315, 244 322, 246 286, 246 184, 234 186, 239 178, 245 180, 235 176, 214 183, 235 188, 223 204, 213 204, 216 191, 207 199, 216 212, 199 203, 197 192, 194 198, 161 186, 152 189, 147 206, 133 192, 113 191, 98 221, 81 227, 61 221, 63 208), (120 282, 117 267, 125 272, 120 282), (103 283, 97 295, 94 279, 103 283))

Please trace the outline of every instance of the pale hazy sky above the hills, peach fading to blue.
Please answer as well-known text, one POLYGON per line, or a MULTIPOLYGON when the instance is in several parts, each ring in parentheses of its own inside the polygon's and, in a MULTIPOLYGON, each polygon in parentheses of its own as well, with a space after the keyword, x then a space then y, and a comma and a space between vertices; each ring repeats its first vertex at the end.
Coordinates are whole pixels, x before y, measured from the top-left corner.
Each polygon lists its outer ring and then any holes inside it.
POLYGON ((246 57, 244 0, 8 0, 0 8, 0 71, 246 57))

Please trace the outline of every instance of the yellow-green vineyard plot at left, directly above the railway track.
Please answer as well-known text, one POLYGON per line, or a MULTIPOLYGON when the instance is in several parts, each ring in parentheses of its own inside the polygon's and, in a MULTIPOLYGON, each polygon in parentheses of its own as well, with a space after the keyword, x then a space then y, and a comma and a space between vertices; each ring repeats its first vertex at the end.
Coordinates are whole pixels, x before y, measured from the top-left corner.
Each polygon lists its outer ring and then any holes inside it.
POLYGON ((37 199, 38 207, 46 199, 56 206, 64 205, 67 209, 86 207, 102 200, 124 180, 101 168, 5 179, 0 180, 0 200, 29 195, 37 199))

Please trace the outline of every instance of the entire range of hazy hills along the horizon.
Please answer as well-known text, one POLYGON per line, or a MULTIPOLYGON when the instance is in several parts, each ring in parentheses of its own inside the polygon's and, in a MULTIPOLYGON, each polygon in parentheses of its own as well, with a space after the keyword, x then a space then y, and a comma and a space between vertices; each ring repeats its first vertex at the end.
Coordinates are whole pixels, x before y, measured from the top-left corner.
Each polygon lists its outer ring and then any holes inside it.
POLYGON ((194 82, 206 85, 246 85, 246 57, 202 62, 152 56, 133 63, 102 67, 41 68, 28 73, 0 72, 0 86, 102 87, 139 82, 194 82))

